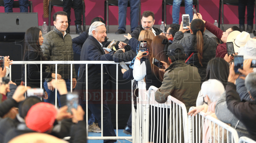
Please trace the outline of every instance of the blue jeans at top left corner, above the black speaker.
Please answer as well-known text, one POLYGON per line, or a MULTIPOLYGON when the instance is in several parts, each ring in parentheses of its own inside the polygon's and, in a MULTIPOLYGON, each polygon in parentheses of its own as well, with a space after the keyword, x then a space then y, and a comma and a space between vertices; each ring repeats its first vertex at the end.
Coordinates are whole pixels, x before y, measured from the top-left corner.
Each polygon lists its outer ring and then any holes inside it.
MULTIPOLYGON (((12 11, 13 1, 14 0, 4 0, 5 12, 13 12, 12 11)), ((28 6, 29 6, 28 0, 19 0, 20 12, 28 12, 28 6)))

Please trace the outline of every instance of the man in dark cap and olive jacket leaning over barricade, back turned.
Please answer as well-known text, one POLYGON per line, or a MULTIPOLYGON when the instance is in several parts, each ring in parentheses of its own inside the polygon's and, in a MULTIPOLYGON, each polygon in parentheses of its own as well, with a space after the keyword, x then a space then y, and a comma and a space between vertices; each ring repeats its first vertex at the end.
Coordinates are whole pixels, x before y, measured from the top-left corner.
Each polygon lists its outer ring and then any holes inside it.
MULTIPOLYGON (((187 65, 185 59, 184 47, 181 44, 171 44, 168 46, 168 60, 171 65, 165 70, 160 69, 165 72, 164 80, 161 87, 155 93, 155 100, 158 103, 165 103, 170 95, 183 102, 187 111, 189 111, 189 108, 196 104, 196 98, 200 91, 201 77, 198 69, 187 65)), ((164 65, 166 65, 165 67, 168 66, 167 63, 164 63, 164 65)), ((173 124, 172 122, 171 124, 173 124)), ((183 127, 181 128, 183 129, 183 127)), ((170 133, 170 130, 173 130, 173 128, 169 128, 168 133, 170 133)), ((168 135, 168 138, 170 138, 170 135, 168 135)), ((172 131, 171 138, 176 138, 173 137, 172 131)), ((181 140, 184 142, 184 136, 182 136, 181 140)))

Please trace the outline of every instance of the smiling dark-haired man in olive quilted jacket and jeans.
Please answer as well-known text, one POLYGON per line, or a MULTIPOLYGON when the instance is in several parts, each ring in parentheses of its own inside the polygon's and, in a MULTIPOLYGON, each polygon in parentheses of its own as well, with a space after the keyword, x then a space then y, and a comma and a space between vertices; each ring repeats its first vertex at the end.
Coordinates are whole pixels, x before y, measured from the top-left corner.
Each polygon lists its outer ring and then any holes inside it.
MULTIPOLYGON (((73 49, 72 39, 67 30, 67 13, 64 11, 58 11, 53 15, 54 28, 43 36, 43 55, 45 60, 49 61, 73 61, 73 49)), ((61 78, 65 80, 67 90, 70 91, 70 75, 72 74, 72 88, 76 86, 76 73, 74 65, 71 70, 70 64, 58 64, 57 73, 61 75, 61 78)), ((46 72, 55 73, 55 64, 47 66, 46 72)), ((55 89, 49 83, 52 78, 45 79, 43 86, 48 94, 48 99, 45 102, 54 103, 55 89)), ((57 92, 57 98, 60 99, 60 94, 57 92)), ((57 100, 57 99, 55 99, 57 100)), ((59 100, 60 101, 60 100, 59 100)), ((61 103, 59 102, 61 107, 61 103)))

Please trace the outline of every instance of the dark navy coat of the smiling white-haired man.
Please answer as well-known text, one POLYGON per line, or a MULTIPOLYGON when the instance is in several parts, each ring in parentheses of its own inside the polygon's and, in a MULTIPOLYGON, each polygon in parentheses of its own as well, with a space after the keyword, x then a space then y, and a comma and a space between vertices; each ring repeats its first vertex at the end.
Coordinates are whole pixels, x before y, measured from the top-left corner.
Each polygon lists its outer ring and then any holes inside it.
MULTIPOLYGON (((105 54, 99 42, 89 36, 81 50, 81 61, 113 61, 113 52, 105 54)), ((86 88, 86 64, 80 64, 76 90, 80 92, 86 88)), ((104 79, 108 79, 108 65, 103 66, 104 79)), ((88 89, 101 89, 101 65, 88 64, 88 89)))

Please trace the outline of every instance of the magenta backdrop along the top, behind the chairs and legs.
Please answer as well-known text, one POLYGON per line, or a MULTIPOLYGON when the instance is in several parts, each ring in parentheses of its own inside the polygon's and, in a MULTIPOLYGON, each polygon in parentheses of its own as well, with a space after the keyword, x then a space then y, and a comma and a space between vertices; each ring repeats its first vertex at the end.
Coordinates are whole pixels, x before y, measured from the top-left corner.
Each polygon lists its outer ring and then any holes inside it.
MULTIPOLYGON (((92 18, 104 18, 105 0, 85 0, 85 21, 90 25, 92 18)), ((43 0, 32 0, 33 12, 38 13, 38 23, 43 25, 43 21, 48 24, 48 18, 43 18, 43 0)), ((199 0, 199 13, 204 20, 214 23, 219 16, 219 0, 199 0)), ((62 11, 61 7, 53 7, 52 15, 56 11, 62 11)), ((155 14, 155 24, 161 24, 162 21, 162 0, 141 0, 141 11, 153 11, 155 14)), ((14 12, 19 12, 19 8, 13 8, 14 12)), ((172 23, 172 6, 167 5, 167 24, 172 23)), ((4 7, 0 7, 0 12, 4 12, 4 7)), ((185 14, 185 8, 180 9, 181 15, 185 14)), ((245 16, 246 17, 246 16, 245 16)), ((74 25, 74 10, 71 9, 71 25, 74 25)), ((130 8, 127 8, 126 24, 130 25, 130 8)), ((245 20, 246 21, 246 20, 245 20)), ((255 21, 255 20, 254 20, 255 21)), ((218 21, 219 22, 219 21, 218 21)), ((233 5, 224 5, 224 24, 238 24, 238 7, 233 5)), ((255 22, 254 22, 255 23, 255 22)), ((53 25, 53 21, 51 21, 53 25)), ((109 6, 109 25, 118 25, 118 7, 109 6)))

